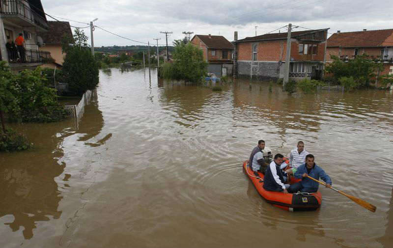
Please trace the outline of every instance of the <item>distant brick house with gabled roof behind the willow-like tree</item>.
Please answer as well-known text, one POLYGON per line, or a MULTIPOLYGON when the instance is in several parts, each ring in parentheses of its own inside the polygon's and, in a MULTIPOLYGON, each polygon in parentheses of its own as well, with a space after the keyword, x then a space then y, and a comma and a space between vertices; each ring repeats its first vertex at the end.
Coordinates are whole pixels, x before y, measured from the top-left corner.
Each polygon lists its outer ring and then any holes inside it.
POLYGON ((196 34, 191 43, 202 49, 203 57, 209 63, 208 72, 217 76, 232 75, 233 45, 224 36, 196 34))

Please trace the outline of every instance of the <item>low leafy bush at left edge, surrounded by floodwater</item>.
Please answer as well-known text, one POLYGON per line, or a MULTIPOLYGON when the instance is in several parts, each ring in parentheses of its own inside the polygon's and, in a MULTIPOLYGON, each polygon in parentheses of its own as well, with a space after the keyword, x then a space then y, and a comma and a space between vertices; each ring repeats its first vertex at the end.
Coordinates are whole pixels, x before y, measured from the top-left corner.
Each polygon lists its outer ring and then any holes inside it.
POLYGON ((12 129, 0 130, 0 151, 26 150, 31 146, 24 135, 12 129))

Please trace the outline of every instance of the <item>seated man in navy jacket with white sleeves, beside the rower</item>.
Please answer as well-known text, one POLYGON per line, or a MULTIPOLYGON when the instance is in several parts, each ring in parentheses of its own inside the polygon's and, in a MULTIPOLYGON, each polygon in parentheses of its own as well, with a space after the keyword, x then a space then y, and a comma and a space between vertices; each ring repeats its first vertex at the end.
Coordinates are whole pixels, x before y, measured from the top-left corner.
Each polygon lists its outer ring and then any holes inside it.
POLYGON ((274 156, 274 160, 267 167, 265 176, 263 178, 263 188, 267 191, 279 191, 288 193, 287 189, 289 188, 289 184, 285 184, 284 177, 288 177, 288 174, 280 168, 282 164, 284 156, 280 153, 274 156))

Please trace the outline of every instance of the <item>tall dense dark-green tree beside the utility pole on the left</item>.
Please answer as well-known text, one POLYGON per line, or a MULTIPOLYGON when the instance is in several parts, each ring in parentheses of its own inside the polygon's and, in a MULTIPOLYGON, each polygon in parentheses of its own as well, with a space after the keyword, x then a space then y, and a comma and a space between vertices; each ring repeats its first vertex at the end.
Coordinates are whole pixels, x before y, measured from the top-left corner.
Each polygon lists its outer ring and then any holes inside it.
POLYGON ((98 84, 98 65, 83 30, 75 28, 75 43, 65 42, 63 52, 66 53, 63 63, 64 83, 70 90, 82 95, 86 90, 94 89, 98 84))

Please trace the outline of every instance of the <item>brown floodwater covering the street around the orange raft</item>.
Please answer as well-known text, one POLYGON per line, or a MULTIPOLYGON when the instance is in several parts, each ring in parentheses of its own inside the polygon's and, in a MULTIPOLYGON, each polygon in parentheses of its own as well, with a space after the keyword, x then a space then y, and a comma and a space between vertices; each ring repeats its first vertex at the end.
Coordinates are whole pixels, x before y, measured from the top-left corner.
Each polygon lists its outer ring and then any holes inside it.
POLYGON ((393 93, 288 96, 100 71, 72 119, 15 126, 34 148, 0 153, 0 247, 393 247, 393 93), (266 203, 243 172, 264 139, 303 140, 333 187, 315 212, 266 203))

